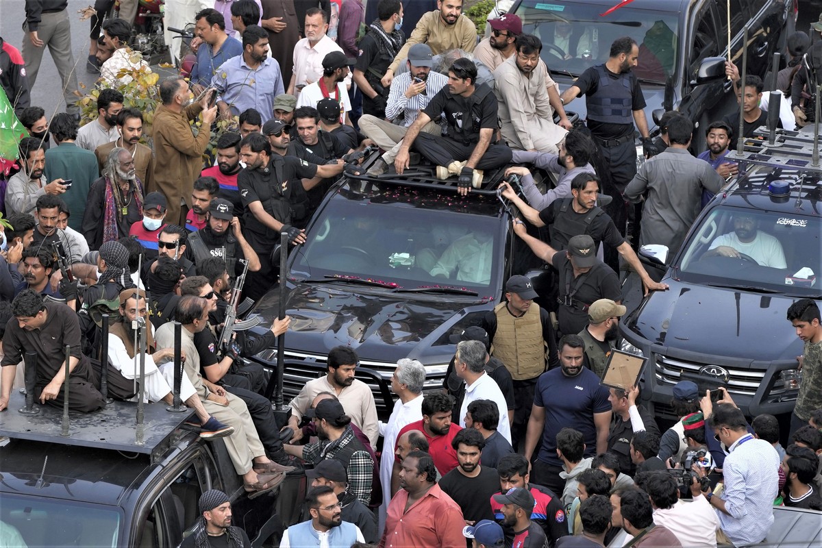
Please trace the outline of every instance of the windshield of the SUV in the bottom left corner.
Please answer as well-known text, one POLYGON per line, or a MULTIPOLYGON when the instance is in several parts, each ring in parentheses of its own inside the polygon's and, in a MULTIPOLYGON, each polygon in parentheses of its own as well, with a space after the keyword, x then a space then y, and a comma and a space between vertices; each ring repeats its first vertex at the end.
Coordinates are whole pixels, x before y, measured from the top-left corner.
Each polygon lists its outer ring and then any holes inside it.
POLYGON ((116 509, 9 493, 2 495, 0 532, 2 546, 122 546, 116 509))

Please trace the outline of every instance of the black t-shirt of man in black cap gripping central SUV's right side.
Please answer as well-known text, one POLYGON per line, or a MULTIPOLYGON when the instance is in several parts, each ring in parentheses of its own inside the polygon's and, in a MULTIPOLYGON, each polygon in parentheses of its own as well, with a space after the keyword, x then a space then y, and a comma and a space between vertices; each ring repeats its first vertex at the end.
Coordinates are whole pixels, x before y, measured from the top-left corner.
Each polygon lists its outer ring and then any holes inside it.
POLYGON ((597 260, 593 268, 585 274, 574 278, 574 271, 570 260, 565 253, 556 253, 552 264, 559 273, 560 299, 565 299, 566 293, 574 299, 574 306, 560 305, 559 323, 562 334, 578 334, 588 325, 588 309, 580 306, 590 306, 599 299, 622 300, 622 290, 619 278, 608 265, 597 260), (566 288, 566 286, 568 286, 566 288))

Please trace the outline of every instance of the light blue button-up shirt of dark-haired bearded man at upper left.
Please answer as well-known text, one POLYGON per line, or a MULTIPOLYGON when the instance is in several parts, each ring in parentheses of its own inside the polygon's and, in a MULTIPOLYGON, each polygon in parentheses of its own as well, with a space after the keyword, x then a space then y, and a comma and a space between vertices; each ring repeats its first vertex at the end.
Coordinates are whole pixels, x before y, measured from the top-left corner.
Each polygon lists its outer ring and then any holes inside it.
POLYGON ((252 70, 242 55, 220 65, 211 79, 211 86, 219 93, 218 100, 229 104, 234 116, 247 108, 256 108, 263 123, 274 116, 274 98, 285 93, 283 75, 276 59, 266 58, 252 70))

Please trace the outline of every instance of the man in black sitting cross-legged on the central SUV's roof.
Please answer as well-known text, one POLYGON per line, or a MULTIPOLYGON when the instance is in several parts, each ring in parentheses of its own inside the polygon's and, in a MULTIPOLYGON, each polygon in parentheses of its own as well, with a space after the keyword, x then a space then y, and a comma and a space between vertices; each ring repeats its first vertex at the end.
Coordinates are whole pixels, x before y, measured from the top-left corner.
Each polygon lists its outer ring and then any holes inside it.
POLYGON ((511 161, 506 145, 492 144, 499 126, 496 96, 485 84, 476 85, 477 66, 466 58, 457 59, 448 69, 448 86, 434 95, 428 106, 409 127, 394 160, 400 175, 409 167, 413 146, 437 166, 436 176, 458 175, 459 194, 483 184, 483 170, 501 168, 511 161), (421 132, 423 126, 445 113, 447 136, 421 132))

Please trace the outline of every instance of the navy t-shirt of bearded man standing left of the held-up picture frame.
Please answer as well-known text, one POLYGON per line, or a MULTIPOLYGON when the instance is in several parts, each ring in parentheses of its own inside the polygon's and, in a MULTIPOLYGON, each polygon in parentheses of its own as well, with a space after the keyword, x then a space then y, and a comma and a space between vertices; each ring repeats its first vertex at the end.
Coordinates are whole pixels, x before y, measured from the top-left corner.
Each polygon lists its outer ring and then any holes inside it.
POLYGON ((545 408, 543 446, 539 460, 561 466, 556 456, 556 434, 563 428, 580 431, 585 440, 585 457, 597 453, 597 427, 593 414, 611 411, 608 389, 599 384, 599 377, 587 367, 575 377, 566 377, 561 367, 539 375, 533 394, 533 404, 545 408))

